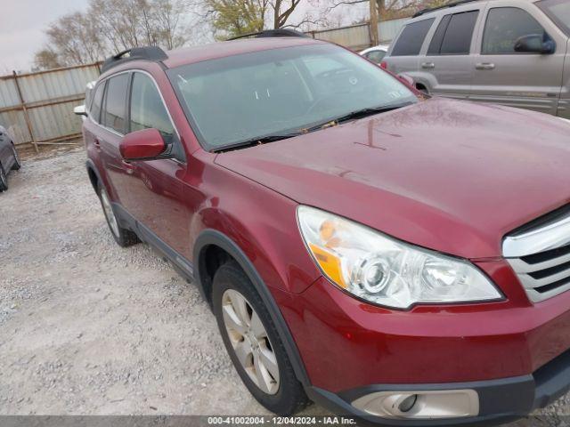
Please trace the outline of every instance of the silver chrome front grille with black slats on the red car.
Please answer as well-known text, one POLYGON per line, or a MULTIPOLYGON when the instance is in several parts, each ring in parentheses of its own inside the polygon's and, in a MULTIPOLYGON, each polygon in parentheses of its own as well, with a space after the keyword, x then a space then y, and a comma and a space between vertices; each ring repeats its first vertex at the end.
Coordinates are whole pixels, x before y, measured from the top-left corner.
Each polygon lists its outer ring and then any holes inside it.
POLYGON ((530 300, 541 302, 570 289, 570 212, 531 224, 505 238, 503 255, 530 300))

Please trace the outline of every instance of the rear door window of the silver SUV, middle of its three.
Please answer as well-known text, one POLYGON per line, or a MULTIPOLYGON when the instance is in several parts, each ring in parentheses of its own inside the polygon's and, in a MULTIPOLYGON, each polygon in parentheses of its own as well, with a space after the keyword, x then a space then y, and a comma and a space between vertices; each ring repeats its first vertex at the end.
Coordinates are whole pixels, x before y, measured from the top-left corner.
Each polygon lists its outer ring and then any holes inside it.
POLYGON ((446 15, 429 44, 430 55, 468 55, 478 11, 446 15))

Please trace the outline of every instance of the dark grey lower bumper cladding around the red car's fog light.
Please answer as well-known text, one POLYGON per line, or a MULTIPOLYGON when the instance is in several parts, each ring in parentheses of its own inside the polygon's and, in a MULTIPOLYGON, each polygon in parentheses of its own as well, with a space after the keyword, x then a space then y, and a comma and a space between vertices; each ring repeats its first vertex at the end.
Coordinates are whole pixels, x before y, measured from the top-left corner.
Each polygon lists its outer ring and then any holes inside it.
POLYGON ((546 407, 570 390, 570 350, 551 360, 532 375, 473 383, 377 384, 337 394, 310 387, 310 398, 340 415, 382 425, 495 425, 525 416, 534 409, 546 407), (355 399, 376 391, 458 390, 476 391, 479 414, 472 417, 437 420, 387 419, 373 416, 352 406, 355 399))

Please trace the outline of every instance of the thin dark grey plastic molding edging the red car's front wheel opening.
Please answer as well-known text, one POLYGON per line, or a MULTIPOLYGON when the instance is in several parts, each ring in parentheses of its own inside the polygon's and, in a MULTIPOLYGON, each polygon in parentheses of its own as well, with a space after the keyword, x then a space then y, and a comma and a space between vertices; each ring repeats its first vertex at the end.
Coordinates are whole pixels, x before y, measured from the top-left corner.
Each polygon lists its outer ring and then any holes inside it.
MULTIPOLYGON (((216 230, 203 230, 199 234, 199 237, 196 239, 196 244, 194 245, 194 280, 199 286, 200 294, 205 296, 204 285, 200 278, 199 255, 203 248, 210 245, 218 246, 224 249, 224 251, 228 254, 232 255, 232 258, 240 264, 241 269, 243 269, 248 275, 249 280, 251 280, 251 283, 256 287, 257 293, 261 296, 261 299, 265 303, 265 307, 267 307, 267 310, 269 310, 270 314, 272 315, 273 321, 275 322, 275 327, 277 328, 277 332, 281 338, 281 342, 283 342, 285 350, 287 351, 287 355, 289 356, 289 360, 291 361, 291 365, 295 370, 297 380, 305 387, 310 386, 311 383, 306 373, 305 365, 303 364, 301 355, 297 349, 297 344, 295 343, 295 340, 289 331, 289 326, 287 326, 285 318, 283 318, 283 315, 281 314, 281 310, 279 310, 277 303, 273 299, 273 295, 269 292, 269 289, 265 285, 265 282, 259 276, 259 273, 257 273, 257 270, 249 261, 247 255, 244 254, 240 249, 240 247, 237 246, 231 238, 228 238, 216 230)), ((207 298, 206 301, 208 301, 207 298)))

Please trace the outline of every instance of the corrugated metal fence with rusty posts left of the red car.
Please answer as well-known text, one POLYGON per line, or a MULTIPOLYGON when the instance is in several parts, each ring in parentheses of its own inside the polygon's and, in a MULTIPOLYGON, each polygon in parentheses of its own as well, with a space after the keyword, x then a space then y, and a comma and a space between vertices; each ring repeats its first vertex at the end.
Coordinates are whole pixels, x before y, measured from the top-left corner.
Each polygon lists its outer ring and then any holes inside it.
POLYGON ((99 63, 0 77, 0 125, 14 143, 41 144, 81 136, 73 108, 85 100, 85 85, 99 77, 99 63))

